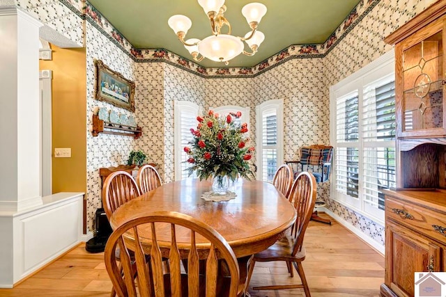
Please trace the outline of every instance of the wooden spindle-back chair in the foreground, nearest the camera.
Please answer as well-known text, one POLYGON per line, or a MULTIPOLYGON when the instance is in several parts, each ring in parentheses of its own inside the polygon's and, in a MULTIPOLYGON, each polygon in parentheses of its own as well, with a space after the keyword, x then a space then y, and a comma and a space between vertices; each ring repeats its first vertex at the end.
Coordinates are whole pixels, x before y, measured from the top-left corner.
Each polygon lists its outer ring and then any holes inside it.
POLYGON ((107 273, 118 296, 137 296, 138 291, 138 296, 143 297, 235 297, 240 293, 238 288, 242 287, 238 285, 237 258, 229 243, 209 225, 174 211, 152 212, 124 223, 107 241, 104 257, 107 273), (178 242, 178 236, 185 234, 190 242, 178 242), (201 242, 198 243, 197 239, 201 242), (208 243, 203 243, 202 239, 208 243), (134 251, 137 273, 129 254, 121 252, 121 275, 115 258, 118 246, 121 250, 134 251), (169 273, 162 271, 163 257, 169 261, 169 273), (182 259, 187 259, 187 275, 180 271, 182 259), (219 274, 221 259, 229 268, 230 277, 224 280, 219 274), (206 271, 200 271, 200 260, 206 262, 206 271), (227 294, 217 289, 226 289, 227 294))

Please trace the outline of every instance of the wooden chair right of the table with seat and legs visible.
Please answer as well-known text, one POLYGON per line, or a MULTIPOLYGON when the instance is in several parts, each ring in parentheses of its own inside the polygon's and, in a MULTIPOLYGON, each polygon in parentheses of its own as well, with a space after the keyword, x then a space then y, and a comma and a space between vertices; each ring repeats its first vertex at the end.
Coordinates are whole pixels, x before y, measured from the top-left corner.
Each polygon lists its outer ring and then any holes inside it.
MULTIPOLYGON (((309 297, 310 293, 304 269, 302 267, 302 261, 305 260, 305 247, 303 246, 305 230, 307 230, 309 219, 313 213, 314 203, 316 202, 316 179, 311 173, 300 172, 291 187, 289 201, 293 204, 298 214, 295 224, 291 227, 291 232, 287 233, 282 239, 270 246, 267 250, 263 250, 263 252, 259 252, 252 257, 252 261, 249 264, 247 284, 249 284, 249 280, 251 280, 252 271, 254 271, 256 262, 284 261, 287 266, 291 268, 291 271, 293 271, 293 267, 298 271, 302 284, 277 284, 272 286, 253 287, 252 289, 275 290, 303 288, 305 296, 309 297)), ((291 274, 291 277, 292 276, 293 274, 291 274)))

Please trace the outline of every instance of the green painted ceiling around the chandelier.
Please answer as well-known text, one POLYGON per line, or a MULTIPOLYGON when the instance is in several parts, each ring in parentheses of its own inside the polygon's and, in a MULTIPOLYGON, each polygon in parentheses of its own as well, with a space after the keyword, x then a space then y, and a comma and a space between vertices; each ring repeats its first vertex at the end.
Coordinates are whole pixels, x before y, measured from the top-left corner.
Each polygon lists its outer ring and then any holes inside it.
MULTIPOLYGON (((226 0, 224 16, 232 26, 232 34, 243 36, 249 26, 241 10, 256 0, 226 0)), ((268 12, 259 24, 265 41, 255 56, 240 56, 229 62, 230 67, 250 67, 290 45, 322 43, 341 24, 360 0, 257 0, 268 12)), ((167 25, 171 15, 186 15, 192 28, 186 38, 203 39, 210 35, 208 17, 197 0, 89 0, 112 25, 137 49, 164 48, 192 60, 167 25)), ((246 50, 249 50, 247 45, 246 50)), ((204 59, 205 67, 221 67, 204 59)))

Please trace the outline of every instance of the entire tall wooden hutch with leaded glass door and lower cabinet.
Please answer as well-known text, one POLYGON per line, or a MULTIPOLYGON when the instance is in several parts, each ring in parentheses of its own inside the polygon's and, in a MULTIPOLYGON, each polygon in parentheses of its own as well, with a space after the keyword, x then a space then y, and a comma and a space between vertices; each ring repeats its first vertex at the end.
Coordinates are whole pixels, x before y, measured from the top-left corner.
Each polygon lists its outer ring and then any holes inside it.
POLYGON ((395 46, 397 190, 385 193, 381 296, 414 296, 415 272, 446 270, 446 1, 385 38, 395 46))

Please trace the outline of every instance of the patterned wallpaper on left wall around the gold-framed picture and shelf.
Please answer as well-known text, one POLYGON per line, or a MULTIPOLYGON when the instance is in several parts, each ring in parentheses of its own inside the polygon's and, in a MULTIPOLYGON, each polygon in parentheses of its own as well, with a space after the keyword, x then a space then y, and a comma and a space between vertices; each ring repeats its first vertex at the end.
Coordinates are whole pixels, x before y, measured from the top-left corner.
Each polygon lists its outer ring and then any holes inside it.
MULTIPOLYGON (((128 136, 109 134, 100 134, 96 137, 92 136, 93 113, 97 112, 98 108, 105 107, 117 113, 124 113, 128 116, 132 115, 126 109, 120 109, 107 102, 94 99, 95 70, 93 61, 94 59, 102 60, 105 65, 117 72, 121 72, 124 77, 132 81, 136 78, 136 66, 129 56, 118 49, 112 42, 109 42, 105 35, 91 26, 90 22, 86 22, 86 57, 87 227, 89 230, 94 230, 93 219, 95 210, 102 205, 99 168, 125 163, 128 159, 128 154, 134 147, 134 140, 128 136)), ((137 98, 139 98, 140 91, 141 87, 135 91, 137 98)), ((139 100, 136 101, 139 104, 139 100)), ((137 113, 137 121, 139 120, 138 115, 137 113)))

